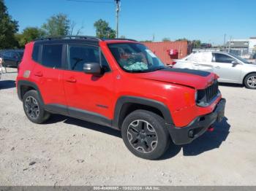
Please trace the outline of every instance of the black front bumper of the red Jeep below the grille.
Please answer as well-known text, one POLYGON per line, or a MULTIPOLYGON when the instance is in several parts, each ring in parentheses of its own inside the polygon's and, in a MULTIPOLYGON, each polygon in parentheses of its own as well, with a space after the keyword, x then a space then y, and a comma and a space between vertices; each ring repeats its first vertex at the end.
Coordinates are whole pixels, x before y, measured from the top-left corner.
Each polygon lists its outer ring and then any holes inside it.
POLYGON ((216 108, 210 114, 195 118, 189 125, 183 128, 168 127, 174 144, 189 144, 197 137, 203 135, 214 123, 221 122, 224 117, 226 100, 222 98, 216 108))

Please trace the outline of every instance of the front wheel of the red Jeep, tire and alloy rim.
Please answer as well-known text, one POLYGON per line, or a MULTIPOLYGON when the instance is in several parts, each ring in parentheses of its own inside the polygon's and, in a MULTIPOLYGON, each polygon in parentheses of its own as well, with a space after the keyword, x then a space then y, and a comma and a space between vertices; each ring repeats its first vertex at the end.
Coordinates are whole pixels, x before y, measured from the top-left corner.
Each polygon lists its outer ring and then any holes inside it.
POLYGON ((137 157, 155 160, 170 146, 170 135, 165 120, 153 112, 136 110, 121 126, 124 144, 137 157))

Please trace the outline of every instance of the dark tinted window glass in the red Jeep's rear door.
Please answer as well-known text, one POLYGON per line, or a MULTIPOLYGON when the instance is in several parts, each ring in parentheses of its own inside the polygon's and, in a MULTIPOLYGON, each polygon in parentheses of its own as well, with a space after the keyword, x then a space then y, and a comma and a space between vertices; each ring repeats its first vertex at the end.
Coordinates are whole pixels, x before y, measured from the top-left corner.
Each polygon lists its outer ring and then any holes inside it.
POLYGON ((61 69, 62 44, 45 44, 42 46, 42 65, 61 69))

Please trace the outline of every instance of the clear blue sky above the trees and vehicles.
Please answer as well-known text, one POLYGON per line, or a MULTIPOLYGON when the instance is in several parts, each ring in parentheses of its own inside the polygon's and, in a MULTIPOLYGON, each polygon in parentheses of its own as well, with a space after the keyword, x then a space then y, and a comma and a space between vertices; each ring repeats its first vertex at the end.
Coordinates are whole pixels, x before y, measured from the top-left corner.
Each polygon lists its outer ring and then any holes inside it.
MULTIPOLYGON (((94 22, 100 18, 116 28, 114 0, 4 1, 18 20, 19 31, 40 27, 60 12, 75 21, 77 29, 83 26, 83 35, 95 36, 94 22)), ((129 39, 152 40, 154 36, 155 41, 167 37, 223 44, 225 34, 226 39, 256 36, 256 0, 121 0, 119 35, 129 39)))

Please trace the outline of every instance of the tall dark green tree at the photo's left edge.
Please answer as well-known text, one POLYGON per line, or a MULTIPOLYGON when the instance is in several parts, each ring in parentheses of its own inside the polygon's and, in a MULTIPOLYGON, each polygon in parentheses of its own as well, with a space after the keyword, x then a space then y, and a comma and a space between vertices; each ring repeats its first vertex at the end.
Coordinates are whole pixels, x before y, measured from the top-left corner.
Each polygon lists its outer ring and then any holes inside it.
POLYGON ((7 12, 4 0, 0 0, 0 49, 16 47, 18 42, 15 33, 18 31, 18 21, 13 20, 7 12))

